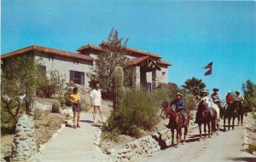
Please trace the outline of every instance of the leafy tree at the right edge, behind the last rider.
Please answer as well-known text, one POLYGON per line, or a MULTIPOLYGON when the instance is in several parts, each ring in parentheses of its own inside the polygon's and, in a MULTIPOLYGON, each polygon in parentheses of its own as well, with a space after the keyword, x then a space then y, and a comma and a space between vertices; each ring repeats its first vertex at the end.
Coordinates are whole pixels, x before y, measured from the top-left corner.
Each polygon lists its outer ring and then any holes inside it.
POLYGON ((242 84, 241 89, 244 93, 245 106, 249 110, 256 111, 256 84, 247 80, 246 84, 242 84))

